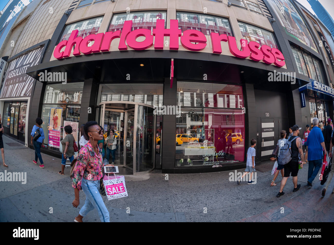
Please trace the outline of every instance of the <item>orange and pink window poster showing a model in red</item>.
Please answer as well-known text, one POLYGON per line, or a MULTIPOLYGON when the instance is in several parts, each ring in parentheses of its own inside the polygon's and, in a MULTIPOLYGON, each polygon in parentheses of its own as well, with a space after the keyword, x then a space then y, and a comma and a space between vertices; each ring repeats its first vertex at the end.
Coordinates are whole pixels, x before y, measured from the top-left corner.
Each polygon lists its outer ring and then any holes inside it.
POLYGON ((62 108, 50 108, 49 146, 59 148, 62 108))

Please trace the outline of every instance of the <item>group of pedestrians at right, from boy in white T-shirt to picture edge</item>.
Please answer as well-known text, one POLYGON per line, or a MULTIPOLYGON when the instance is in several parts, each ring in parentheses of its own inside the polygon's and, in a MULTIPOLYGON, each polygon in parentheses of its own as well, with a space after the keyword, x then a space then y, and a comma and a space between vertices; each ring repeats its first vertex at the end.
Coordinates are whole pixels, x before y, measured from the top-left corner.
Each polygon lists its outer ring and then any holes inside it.
MULTIPOLYGON (((282 130, 281 138, 278 140, 276 148, 273 151, 273 154, 277 157, 277 163, 275 162, 274 165, 274 178, 270 186, 276 186, 276 178, 279 173, 282 175, 280 190, 276 195, 277 197, 284 195, 283 189, 290 175, 292 176, 292 182, 294 184, 293 192, 299 190, 301 184, 298 184, 297 175, 299 169, 302 169, 304 164, 308 163, 307 185, 312 187, 313 181, 316 176, 318 176, 318 172, 322 168, 324 161, 328 160, 331 161, 331 163, 334 162, 332 153, 334 145, 332 120, 328 118, 327 125, 324 127, 322 122, 319 123, 318 118, 313 118, 312 130, 310 130, 309 125, 306 125, 303 139, 299 137, 301 129, 302 128, 298 125, 290 127, 287 139, 286 131, 282 130)), ((251 146, 247 150, 245 173, 237 178, 238 184, 240 184, 241 179, 247 174, 249 176, 247 184, 256 184, 256 181, 253 180, 255 173, 255 146, 256 140, 252 139, 251 146)), ((334 169, 333 167, 330 168, 331 163, 329 163, 329 172, 326 173, 326 176, 322 176, 321 174, 322 178, 326 178, 325 186, 321 193, 322 196, 325 196, 333 178, 334 169)), ((332 193, 334 193, 334 189, 332 193)))

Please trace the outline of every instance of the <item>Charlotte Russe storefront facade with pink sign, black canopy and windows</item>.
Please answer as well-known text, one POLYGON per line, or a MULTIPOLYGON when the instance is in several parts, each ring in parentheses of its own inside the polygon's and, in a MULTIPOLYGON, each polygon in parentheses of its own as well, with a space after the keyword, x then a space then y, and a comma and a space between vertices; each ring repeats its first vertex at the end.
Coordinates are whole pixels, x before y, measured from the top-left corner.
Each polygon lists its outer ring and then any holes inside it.
MULTIPOLYGON (((78 139, 95 120, 106 137, 115 130, 122 173, 221 171, 244 167, 253 138, 256 161, 269 159, 280 131, 302 125, 309 77, 267 1, 197 1, 204 13, 196 1, 88 2, 68 2, 42 62, 27 69, 40 81, 28 127, 42 118, 43 152, 60 157, 64 125, 78 139), (270 80, 282 72, 293 81, 270 80)), ((319 54, 310 60, 322 66, 319 54)))

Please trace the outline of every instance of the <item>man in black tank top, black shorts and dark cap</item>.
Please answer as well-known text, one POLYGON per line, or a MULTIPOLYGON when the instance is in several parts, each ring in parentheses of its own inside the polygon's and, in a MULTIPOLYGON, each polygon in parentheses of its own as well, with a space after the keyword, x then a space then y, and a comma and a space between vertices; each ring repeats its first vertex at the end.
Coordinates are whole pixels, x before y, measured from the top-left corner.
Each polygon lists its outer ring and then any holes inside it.
POLYGON ((296 138, 294 141, 291 142, 291 158, 292 159, 290 162, 284 165, 284 177, 282 178, 282 181, 281 181, 280 192, 276 195, 277 197, 284 195, 283 188, 285 184, 287 183, 290 173, 291 173, 292 181, 294 184, 293 192, 298 191, 298 189, 300 188, 300 184, 297 184, 297 181, 298 181, 297 174, 299 170, 298 169, 299 156, 300 156, 300 159, 302 160, 302 163, 300 164, 300 166, 303 167, 303 164, 304 164, 302 139, 298 137, 300 129, 302 128, 298 127, 297 125, 294 125, 292 127, 293 135, 290 137, 289 141, 292 141, 293 139, 296 138))

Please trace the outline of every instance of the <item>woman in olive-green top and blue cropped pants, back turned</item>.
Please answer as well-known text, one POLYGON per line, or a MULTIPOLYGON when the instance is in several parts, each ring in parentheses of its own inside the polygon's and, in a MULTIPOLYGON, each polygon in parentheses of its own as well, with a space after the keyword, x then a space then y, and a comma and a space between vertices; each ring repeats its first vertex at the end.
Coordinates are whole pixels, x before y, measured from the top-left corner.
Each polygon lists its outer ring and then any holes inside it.
POLYGON ((65 164, 66 164, 66 159, 68 159, 72 162, 74 159, 74 137, 72 135, 73 129, 70 125, 66 125, 64 127, 65 131, 65 138, 60 141, 63 150, 63 155, 61 156, 61 171, 58 172, 58 174, 64 175, 64 169, 65 169, 65 164))

